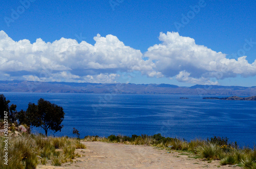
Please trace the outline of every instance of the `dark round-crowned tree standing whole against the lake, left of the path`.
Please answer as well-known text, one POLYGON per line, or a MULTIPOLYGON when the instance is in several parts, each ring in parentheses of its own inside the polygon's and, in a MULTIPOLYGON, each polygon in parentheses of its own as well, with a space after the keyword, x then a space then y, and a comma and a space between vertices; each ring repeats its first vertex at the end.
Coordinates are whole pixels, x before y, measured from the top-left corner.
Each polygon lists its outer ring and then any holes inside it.
POLYGON ((41 127, 45 130, 46 136, 48 130, 53 130, 54 132, 61 131, 63 125, 60 124, 64 119, 64 115, 62 107, 44 99, 39 99, 37 105, 29 103, 25 113, 31 126, 41 127))

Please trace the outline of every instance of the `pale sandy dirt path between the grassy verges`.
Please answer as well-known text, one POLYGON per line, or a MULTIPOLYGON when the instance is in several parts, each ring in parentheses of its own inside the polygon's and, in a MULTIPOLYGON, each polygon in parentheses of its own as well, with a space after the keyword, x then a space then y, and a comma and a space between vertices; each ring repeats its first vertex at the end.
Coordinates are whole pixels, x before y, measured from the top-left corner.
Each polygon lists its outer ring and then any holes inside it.
POLYGON ((150 146, 134 146, 106 142, 83 142, 86 150, 77 150, 83 156, 76 162, 60 167, 38 165, 37 168, 241 168, 219 166, 219 161, 208 163, 200 159, 188 158, 180 152, 159 150, 150 146))

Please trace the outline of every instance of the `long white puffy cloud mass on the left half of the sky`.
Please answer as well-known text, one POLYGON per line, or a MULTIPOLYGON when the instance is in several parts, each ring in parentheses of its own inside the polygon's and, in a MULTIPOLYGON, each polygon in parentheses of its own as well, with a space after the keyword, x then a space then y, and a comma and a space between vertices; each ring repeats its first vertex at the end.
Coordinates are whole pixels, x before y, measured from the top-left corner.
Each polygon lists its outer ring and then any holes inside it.
POLYGON ((39 38, 31 43, 27 39, 14 41, 0 31, 0 71, 24 71, 24 79, 36 81, 87 81, 91 76, 92 82, 98 78, 112 83, 117 71, 162 76, 152 61, 143 60, 139 50, 125 46, 116 36, 98 34, 94 40, 94 45, 65 38, 52 43, 39 38))

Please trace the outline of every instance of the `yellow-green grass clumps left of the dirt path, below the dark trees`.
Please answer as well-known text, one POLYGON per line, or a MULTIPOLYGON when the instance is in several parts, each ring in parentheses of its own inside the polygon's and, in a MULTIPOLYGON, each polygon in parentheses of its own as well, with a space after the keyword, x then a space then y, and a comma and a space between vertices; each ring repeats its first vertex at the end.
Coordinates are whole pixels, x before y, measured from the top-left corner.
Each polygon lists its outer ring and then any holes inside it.
MULTIPOLYGON (((0 136, 0 146, 4 147, 4 137, 0 136)), ((85 149, 84 144, 76 138, 45 137, 23 133, 20 136, 10 136, 8 146, 8 166, 0 160, 1 168, 36 168, 38 164, 52 164, 73 162, 79 153, 76 149, 85 149)), ((0 151, 4 156, 4 151, 0 151)))

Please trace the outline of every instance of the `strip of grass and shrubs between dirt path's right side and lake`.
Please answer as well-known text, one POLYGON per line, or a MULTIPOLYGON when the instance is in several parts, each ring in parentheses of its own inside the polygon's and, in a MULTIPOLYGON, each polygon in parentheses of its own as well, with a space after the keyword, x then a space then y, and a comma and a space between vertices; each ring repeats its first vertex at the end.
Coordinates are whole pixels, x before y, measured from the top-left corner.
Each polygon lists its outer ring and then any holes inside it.
POLYGON ((190 158, 202 158, 211 162, 211 160, 220 160, 220 165, 237 165, 245 169, 256 169, 256 148, 240 148, 237 142, 229 143, 228 138, 212 137, 207 140, 194 139, 190 142, 185 139, 163 137, 161 134, 153 136, 132 135, 109 137, 86 136, 85 141, 103 141, 114 143, 125 143, 135 145, 147 145, 166 149, 167 151, 181 151, 191 154, 190 158))

